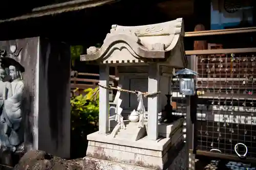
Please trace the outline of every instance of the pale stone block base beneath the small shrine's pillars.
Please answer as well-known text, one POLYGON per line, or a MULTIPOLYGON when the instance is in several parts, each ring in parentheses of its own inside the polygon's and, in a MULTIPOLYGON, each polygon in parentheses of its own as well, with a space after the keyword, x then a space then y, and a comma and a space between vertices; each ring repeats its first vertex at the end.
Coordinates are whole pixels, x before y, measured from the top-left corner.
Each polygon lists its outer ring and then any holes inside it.
MULTIPOLYGON (((183 123, 181 120, 180 122, 183 123)), ((179 125, 179 122, 177 123, 179 125)), ((185 169, 181 168, 186 163, 182 126, 172 125, 171 127, 173 128, 169 128, 172 131, 168 135, 169 137, 159 138, 157 141, 149 140, 147 136, 132 140, 128 136, 126 138, 113 138, 111 133, 106 135, 98 132, 92 133, 87 136, 89 140, 88 158, 85 159, 97 158, 127 164, 127 167, 138 166, 135 169, 167 169, 170 166, 173 167, 174 160, 178 159, 177 168, 172 169, 185 169)), ((113 169, 115 168, 113 167, 113 169)))

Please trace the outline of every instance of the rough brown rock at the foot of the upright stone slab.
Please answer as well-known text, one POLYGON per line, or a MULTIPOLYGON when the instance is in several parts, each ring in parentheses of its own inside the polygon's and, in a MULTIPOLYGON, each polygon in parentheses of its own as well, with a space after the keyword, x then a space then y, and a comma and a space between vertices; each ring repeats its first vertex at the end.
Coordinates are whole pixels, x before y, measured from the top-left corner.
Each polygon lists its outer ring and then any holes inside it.
POLYGON ((44 151, 27 152, 13 170, 82 170, 77 160, 66 160, 44 151))

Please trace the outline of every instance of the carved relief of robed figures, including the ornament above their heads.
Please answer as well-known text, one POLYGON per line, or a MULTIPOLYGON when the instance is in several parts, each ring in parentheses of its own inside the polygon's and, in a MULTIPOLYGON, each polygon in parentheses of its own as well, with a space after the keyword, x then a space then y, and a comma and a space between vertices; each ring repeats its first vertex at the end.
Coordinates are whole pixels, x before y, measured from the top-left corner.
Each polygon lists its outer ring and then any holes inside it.
POLYGON ((9 51, 9 54, 4 50, 0 51, 0 149, 23 152, 23 132, 20 124, 24 90, 22 72, 25 68, 19 63, 22 48, 17 51, 17 47, 11 45, 9 51))

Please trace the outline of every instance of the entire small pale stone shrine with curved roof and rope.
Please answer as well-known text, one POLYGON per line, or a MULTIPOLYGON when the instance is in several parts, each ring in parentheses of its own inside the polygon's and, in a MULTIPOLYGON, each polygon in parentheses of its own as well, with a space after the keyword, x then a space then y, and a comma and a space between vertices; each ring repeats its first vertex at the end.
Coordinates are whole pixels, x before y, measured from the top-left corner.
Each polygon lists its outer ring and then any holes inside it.
POLYGON ((95 161, 98 169, 185 169, 184 119, 172 119, 170 105, 173 70, 187 66, 183 37, 182 18, 113 25, 100 48, 90 47, 81 56, 100 65, 99 131, 87 136, 85 162, 95 161), (117 67, 117 88, 109 86, 109 66, 117 67), (117 90, 111 117, 110 89, 117 90))

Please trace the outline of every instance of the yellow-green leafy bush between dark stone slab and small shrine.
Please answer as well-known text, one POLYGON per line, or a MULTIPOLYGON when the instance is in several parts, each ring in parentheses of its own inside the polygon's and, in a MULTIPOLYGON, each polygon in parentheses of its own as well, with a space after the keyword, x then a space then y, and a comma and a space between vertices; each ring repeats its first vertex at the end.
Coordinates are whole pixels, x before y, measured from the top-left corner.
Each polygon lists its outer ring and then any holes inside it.
MULTIPOLYGON (((78 89, 76 89, 78 90, 78 89)), ((86 95, 71 98, 71 154, 73 158, 83 157, 87 148, 87 135, 98 130, 99 93, 98 88, 84 90, 86 95)))

